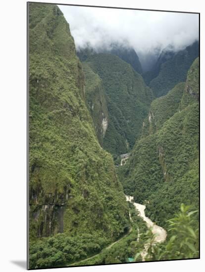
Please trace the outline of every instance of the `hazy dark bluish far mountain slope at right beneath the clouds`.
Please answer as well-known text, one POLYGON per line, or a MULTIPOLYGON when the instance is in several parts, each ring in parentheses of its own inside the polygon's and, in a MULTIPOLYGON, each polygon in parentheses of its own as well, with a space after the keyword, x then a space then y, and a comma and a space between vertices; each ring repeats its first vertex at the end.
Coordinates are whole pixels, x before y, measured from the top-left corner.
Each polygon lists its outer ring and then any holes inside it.
POLYGON ((199 43, 187 46, 169 57, 168 60, 161 56, 159 59, 159 67, 155 66, 152 71, 155 78, 152 79, 145 76, 145 81, 150 82, 150 88, 153 90, 155 97, 165 95, 168 91, 174 88, 177 83, 186 81, 187 72, 193 61, 199 56, 199 43), (162 63, 161 63, 162 62, 162 63))

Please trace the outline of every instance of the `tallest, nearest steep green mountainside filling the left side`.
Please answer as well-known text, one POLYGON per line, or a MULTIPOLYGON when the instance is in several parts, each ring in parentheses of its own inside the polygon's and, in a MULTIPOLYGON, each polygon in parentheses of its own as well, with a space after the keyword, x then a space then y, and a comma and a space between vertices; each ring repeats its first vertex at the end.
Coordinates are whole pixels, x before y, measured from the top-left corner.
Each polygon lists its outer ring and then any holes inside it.
POLYGON ((58 232, 116 239, 129 227, 128 205, 98 142, 82 65, 56 5, 29 3, 29 42, 31 241, 58 232))

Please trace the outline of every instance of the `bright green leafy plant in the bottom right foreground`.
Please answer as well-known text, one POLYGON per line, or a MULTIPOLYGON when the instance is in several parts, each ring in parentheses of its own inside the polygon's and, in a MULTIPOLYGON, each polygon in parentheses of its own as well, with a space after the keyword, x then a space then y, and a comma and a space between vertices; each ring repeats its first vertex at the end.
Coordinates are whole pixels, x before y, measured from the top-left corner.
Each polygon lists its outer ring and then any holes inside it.
POLYGON ((190 211, 190 206, 181 204, 180 212, 168 220, 168 239, 163 244, 154 243, 149 237, 150 247, 146 261, 190 259, 199 257, 199 228, 193 215, 198 211, 190 211))

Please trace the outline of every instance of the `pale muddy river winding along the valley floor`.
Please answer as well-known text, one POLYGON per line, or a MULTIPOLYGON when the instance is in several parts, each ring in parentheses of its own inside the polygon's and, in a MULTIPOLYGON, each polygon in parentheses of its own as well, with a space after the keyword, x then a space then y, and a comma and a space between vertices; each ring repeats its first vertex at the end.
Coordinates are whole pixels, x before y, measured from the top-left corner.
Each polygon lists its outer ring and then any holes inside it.
MULTIPOLYGON (((143 220, 147 223, 147 227, 152 227, 152 233, 155 235, 154 242, 162 243, 166 240, 166 230, 162 227, 157 226, 152 220, 145 215, 146 206, 133 202, 133 196, 126 195, 126 200, 132 202, 135 206, 136 210, 139 212, 139 215, 143 218, 143 220)), ((148 254, 149 244, 145 244, 144 250, 141 253, 142 260, 145 261, 145 257, 148 254)))

